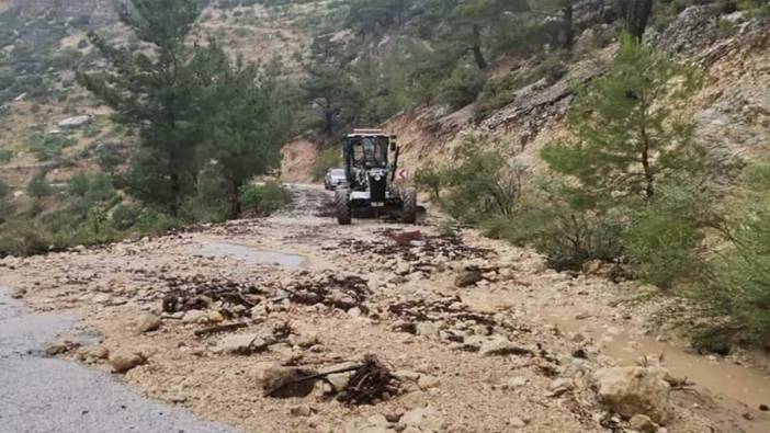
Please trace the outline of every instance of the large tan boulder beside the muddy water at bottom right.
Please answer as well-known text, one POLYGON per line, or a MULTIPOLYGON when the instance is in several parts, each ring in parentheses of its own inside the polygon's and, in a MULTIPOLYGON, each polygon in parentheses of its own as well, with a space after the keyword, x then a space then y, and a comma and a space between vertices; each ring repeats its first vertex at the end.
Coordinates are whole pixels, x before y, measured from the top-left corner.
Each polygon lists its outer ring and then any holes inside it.
POLYGON ((599 400, 625 418, 649 417, 665 425, 671 417, 671 390, 664 368, 612 367, 595 373, 599 400))

